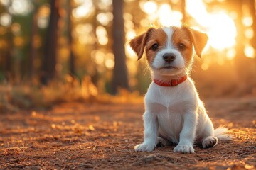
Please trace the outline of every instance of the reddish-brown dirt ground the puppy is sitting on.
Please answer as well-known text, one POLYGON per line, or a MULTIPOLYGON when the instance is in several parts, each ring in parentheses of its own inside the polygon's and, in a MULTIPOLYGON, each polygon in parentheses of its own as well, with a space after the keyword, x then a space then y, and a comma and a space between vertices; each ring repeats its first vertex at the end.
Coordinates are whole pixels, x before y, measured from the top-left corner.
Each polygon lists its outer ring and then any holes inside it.
POLYGON ((0 114, 0 169, 256 169, 256 98, 204 101, 232 141, 196 154, 172 147, 134 152, 143 103, 61 103, 49 111, 0 114))

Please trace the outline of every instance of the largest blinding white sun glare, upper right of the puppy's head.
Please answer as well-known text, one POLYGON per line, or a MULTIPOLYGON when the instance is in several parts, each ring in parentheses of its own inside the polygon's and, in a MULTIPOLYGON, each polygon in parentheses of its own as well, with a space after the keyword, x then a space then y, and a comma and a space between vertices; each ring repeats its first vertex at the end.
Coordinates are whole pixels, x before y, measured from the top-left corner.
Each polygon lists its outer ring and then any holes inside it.
POLYGON ((202 0, 186 1, 188 13, 205 28, 209 44, 217 50, 224 50, 235 45, 237 30, 233 19, 227 13, 208 13, 202 0))

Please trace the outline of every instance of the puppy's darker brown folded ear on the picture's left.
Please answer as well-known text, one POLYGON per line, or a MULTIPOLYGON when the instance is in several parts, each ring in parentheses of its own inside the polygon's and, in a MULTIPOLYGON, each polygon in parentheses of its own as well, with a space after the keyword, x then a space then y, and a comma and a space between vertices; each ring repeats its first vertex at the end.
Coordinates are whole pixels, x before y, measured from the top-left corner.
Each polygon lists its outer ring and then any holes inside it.
POLYGON ((151 33, 152 30, 154 30, 154 28, 149 28, 149 30, 147 30, 146 33, 137 36, 129 42, 129 45, 132 47, 132 50, 136 52, 138 60, 142 58, 146 41, 148 40, 149 34, 151 33))

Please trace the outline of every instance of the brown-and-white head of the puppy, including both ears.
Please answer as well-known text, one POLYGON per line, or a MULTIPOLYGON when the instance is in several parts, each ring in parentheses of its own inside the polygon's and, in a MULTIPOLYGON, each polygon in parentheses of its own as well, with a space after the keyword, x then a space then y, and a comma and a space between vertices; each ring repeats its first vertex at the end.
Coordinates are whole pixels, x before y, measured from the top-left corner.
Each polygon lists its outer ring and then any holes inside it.
POLYGON ((137 53, 138 60, 146 49, 146 59, 153 72, 164 76, 188 73, 193 62, 193 48, 201 57, 208 36, 187 27, 149 28, 129 45, 137 53))

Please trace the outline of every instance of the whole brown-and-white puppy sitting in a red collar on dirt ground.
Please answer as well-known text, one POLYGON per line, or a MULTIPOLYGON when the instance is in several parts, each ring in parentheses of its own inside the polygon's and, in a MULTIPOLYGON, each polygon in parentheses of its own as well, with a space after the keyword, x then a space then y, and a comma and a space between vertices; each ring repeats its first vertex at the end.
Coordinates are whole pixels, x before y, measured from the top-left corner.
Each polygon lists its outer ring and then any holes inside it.
POLYGON ((152 82, 144 97, 144 142, 136 152, 156 145, 176 145, 174 152, 194 153, 194 144, 214 147, 228 140, 227 128, 214 130, 203 102, 189 77, 193 53, 201 57, 208 36, 187 26, 149 28, 129 42, 138 60, 146 52, 152 82))

